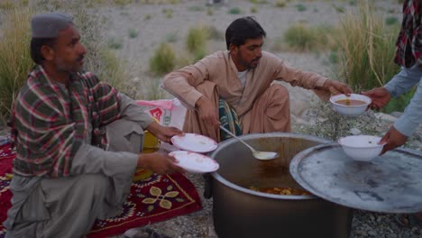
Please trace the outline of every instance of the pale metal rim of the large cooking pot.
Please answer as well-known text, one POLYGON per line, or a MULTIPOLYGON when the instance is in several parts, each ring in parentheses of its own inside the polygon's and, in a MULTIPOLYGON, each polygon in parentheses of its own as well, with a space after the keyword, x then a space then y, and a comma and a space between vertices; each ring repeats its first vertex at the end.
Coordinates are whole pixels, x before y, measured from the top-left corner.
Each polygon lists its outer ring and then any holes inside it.
MULTIPOLYGON (((262 135, 274 135, 274 137, 288 137, 288 138, 296 138, 296 139, 311 139, 312 141, 321 142, 321 143, 331 143, 332 141, 317 137, 315 135, 307 135, 301 133, 251 133, 251 134, 244 134, 240 135, 241 139, 255 139, 255 138, 262 138, 262 135)), ((235 138, 231 138, 226 140, 225 142, 219 142, 216 151, 212 151, 208 153, 208 156, 215 159, 217 151, 224 149, 225 147, 230 146, 231 144, 238 142, 235 138)), ((227 179, 223 178, 220 174, 218 174, 218 170, 211 173, 213 178, 216 178, 217 181, 221 182, 225 186, 229 188, 234 188, 234 190, 243 192, 245 194, 250 194, 252 196, 258 197, 268 197, 268 198, 275 198, 275 199, 282 199, 282 200, 303 200, 303 199, 321 199, 320 197, 316 197, 314 195, 275 195, 269 193, 262 193, 258 191, 253 191, 248 188, 243 188, 241 186, 235 185, 234 183, 228 181, 227 179)), ((296 180, 296 179, 295 179, 296 180)))

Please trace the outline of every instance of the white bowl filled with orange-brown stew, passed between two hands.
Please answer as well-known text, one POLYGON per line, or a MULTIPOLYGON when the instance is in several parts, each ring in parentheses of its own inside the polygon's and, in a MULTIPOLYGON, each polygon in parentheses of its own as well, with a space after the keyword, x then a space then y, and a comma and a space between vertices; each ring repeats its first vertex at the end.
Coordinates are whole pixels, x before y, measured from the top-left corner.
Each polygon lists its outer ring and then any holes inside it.
POLYGON ((363 112, 365 112, 366 108, 368 107, 368 105, 371 104, 372 100, 370 97, 368 96, 363 96, 363 95, 358 95, 358 94, 351 94, 349 96, 350 100, 360 100, 365 102, 364 105, 341 105, 336 103, 339 100, 343 100, 346 99, 347 96, 345 96, 344 94, 342 95, 335 95, 335 96, 331 96, 330 97, 330 102, 333 105, 333 108, 335 109, 335 111, 337 111, 339 114, 344 114, 344 115, 360 115, 363 112))

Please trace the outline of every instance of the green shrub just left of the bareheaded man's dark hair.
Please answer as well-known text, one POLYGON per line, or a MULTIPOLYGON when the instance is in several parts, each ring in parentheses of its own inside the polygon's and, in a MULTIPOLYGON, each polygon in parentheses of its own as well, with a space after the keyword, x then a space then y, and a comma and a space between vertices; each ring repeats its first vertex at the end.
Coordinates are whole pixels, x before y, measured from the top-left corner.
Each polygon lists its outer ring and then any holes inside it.
POLYGON ((206 55, 206 41, 209 37, 208 31, 204 26, 192 27, 186 37, 186 48, 195 56, 195 59, 201 59, 206 55))

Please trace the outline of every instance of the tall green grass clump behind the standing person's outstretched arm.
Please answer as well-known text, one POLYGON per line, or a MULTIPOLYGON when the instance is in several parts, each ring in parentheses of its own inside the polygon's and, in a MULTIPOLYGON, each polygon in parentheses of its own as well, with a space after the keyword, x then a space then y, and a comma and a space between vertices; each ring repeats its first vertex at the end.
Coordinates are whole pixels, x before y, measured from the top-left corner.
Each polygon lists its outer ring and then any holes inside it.
MULTIPOLYGON (((342 18, 340 28, 337 72, 355 91, 381 87, 399 71, 393 62, 399 26, 387 26, 371 3, 360 2, 358 11, 342 18)), ((384 112, 402 111, 411 96, 412 92, 393 99, 384 112)))

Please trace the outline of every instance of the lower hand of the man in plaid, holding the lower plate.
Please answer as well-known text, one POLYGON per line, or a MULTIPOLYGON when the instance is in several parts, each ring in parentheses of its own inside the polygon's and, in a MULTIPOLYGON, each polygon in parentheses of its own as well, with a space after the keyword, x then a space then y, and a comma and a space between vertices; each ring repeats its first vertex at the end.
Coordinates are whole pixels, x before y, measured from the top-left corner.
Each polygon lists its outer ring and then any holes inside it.
POLYGON ((158 174, 186 173, 185 169, 177 165, 177 160, 174 157, 160 151, 139 154, 137 167, 150 169, 158 174))

